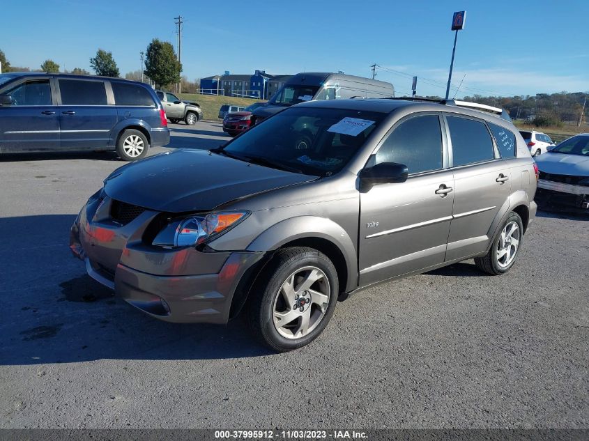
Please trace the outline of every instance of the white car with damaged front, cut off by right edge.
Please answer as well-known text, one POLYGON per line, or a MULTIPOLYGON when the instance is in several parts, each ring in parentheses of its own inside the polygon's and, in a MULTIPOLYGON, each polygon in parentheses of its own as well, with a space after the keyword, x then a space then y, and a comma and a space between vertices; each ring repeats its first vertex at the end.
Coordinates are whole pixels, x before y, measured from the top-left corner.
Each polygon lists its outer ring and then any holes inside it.
POLYGON ((589 133, 577 134, 536 158, 536 202, 589 212, 589 133))

